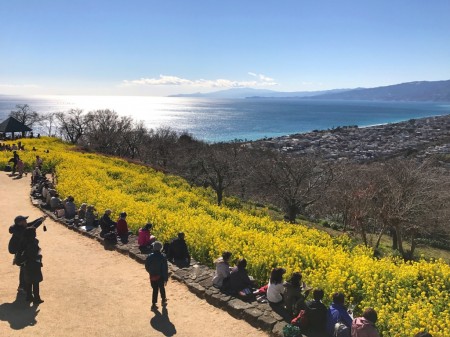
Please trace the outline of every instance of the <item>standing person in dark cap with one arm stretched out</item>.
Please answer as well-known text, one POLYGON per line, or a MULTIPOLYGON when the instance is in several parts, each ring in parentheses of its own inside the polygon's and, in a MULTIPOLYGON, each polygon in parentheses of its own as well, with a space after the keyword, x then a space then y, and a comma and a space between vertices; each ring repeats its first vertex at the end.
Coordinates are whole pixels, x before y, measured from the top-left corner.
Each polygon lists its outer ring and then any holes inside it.
MULTIPOLYGON (((12 234, 9 240, 8 250, 11 254, 14 254, 14 264, 17 264, 18 257, 24 250, 23 235, 28 227, 38 228, 45 220, 46 216, 40 217, 30 223, 27 222, 28 216, 18 215, 14 219, 14 225, 9 227, 9 233, 12 234)), ((18 291, 25 290, 25 276, 22 265, 19 265, 19 287, 18 291)))

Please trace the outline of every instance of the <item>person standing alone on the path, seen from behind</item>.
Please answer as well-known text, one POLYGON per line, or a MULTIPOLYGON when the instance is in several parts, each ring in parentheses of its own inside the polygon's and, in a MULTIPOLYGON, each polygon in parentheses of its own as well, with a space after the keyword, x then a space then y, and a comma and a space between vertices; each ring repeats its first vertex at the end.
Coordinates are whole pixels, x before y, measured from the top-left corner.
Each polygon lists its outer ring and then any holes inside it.
POLYGON ((145 260, 145 270, 147 270, 150 276, 150 285, 153 289, 152 293, 152 306, 154 310, 158 308, 158 291, 161 293, 161 304, 167 304, 167 296, 165 286, 169 278, 169 269, 167 265, 166 256, 161 253, 163 245, 159 241, 153 243, 153 253, 147 256, 145 260))

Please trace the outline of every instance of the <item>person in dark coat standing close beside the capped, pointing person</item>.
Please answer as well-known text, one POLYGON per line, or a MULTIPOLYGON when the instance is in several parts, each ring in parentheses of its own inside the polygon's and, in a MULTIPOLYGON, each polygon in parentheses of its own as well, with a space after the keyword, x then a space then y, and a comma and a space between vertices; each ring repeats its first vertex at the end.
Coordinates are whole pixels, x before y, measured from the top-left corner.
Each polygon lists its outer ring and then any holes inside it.
POLYGON ((36 239, 36 229, 29 227, 24 235, 24 251, 25 256, 24 276, 25 290, 27 293, 26 301, 39 305, 44 301, 39 293, 39 283, 43 281, 42 276, 42 254, 39 247, 39 240, 36 239))

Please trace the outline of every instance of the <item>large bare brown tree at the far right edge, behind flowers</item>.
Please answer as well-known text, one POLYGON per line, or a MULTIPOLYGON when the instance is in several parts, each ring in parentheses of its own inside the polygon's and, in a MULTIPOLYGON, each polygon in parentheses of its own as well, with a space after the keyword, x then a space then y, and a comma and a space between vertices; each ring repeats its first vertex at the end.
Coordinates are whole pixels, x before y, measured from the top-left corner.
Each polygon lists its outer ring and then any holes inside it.
POLYGON ((417 237, 440 231, 445 222, 448 176, 430 161, 396 159, 380 164, 379 168, 381 179, 375 199, 378 217, 392 229, 396 248, 403 258, 411 259, 417 237), (404 248, 406 239, 410 240, 409 251, 404 248))

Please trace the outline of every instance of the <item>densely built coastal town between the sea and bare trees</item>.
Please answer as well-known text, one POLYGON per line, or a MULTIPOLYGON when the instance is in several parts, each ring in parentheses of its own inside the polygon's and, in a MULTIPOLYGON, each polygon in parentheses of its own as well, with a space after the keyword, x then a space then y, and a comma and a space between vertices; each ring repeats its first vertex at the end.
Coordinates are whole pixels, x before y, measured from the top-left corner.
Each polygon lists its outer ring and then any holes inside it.
POLYGON ((321 154, 328 160, 372 161, 398 155, 424 158, 450 155, 450 115, 370 127, 328 130, 266 138, 246 146, 295 155, 321 154))

